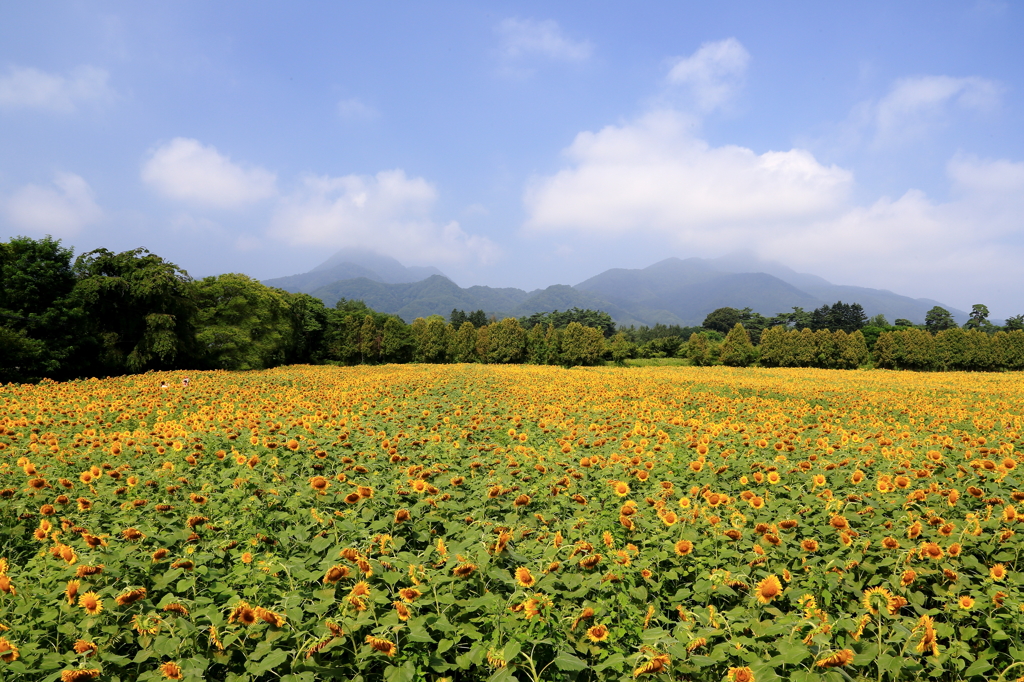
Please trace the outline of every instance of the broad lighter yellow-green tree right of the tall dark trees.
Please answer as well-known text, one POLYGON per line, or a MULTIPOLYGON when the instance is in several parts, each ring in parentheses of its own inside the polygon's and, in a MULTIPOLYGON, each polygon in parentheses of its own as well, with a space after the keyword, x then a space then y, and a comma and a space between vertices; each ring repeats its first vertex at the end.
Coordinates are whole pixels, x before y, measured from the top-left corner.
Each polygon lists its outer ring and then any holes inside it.
POLYGON ((204 367, 261 370, 286 361, 294 334, 286 292, 238 273, 204 278, 194 289, 204 367))

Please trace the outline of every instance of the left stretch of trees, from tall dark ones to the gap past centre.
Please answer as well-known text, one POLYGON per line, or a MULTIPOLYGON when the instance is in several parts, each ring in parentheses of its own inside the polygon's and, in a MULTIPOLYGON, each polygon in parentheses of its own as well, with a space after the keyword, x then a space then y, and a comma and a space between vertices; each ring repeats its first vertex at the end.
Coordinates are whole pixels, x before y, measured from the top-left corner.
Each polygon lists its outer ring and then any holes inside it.
POLYGON ((545 313, 524 326, 478 310, 409 325, 245 274, 194 280, 145 249, 75 257, 48 237, 0 243, 0 383, 319 363, 593 365, 606 330, 579 321, 604 317, 545 313))

